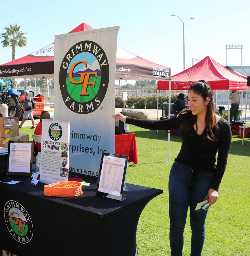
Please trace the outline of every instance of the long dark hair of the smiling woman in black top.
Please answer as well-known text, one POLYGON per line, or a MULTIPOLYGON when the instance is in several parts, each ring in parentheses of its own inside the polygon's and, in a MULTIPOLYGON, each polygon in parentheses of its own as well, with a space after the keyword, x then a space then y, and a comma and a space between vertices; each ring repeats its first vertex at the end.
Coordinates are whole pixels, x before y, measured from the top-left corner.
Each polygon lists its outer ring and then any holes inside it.
MULTIPOLYGON (((202 133, 203 139, 207 139, 209 141, 218 140, 212 130, 214 125, 218 129, 218 125, 216 124, 215 110, 214 110, 213 91, 211 90, 208 82, 206 82, 205 80, 199 80, 198 82, 192 84, 189 87, 188 91, 191 91, 191 90, 195 94, 200 95, 204 101, 206 100, 206 98, 210 99, 209 103, 207 104, 206 117, 205 117, 206 125, 202 133)), ((179 113, 179 115, 183 115, 183 114, 188 114, 190 118, 188 118, 187 121, 183 122, 180 126, 179 135, 181 137, 183 133, 185 133, 186 131, 189 131, 194 126, 194 124, 196 125, 196 130, 197 130, 197 115, 193 115, 191 110, 189 109, 184 109, 179 113)), ((217 129, 216 129, 216 132, 217 132, 217 129)))

